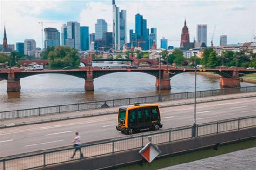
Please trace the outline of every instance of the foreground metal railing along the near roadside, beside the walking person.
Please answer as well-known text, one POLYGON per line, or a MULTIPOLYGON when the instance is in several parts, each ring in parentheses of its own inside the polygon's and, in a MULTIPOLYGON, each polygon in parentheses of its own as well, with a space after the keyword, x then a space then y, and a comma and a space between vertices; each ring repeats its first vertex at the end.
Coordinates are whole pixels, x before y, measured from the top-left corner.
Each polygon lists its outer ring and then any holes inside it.
MULTIPOLYGON (((196 126, 196 137, 218 134, 226 131, 235 131, 254 126, 256 126, 255 115, 198 124, 196 126)), ((193 126, 185 126, 142 135, 123 137, 94 144, 85 144, 81 145, 79 148, 81 148, 84 156, 83 158, 98 157, 107 154, 114 154, 116 152, 142 148, 147 144, 148 136, 152 137, 152 142, 154 144, 171 143, 174 141, 189 139, 193 138, 193 126)), ((2 158, 0 159, 0 170, 20 170, 46 167, 47 165, 81 159, 79 154, 76 154, 74 159, 71 158, 74 149, 75 148, 72 147, 58 150, 47 150, 44 152, 19 157, 2 158)))

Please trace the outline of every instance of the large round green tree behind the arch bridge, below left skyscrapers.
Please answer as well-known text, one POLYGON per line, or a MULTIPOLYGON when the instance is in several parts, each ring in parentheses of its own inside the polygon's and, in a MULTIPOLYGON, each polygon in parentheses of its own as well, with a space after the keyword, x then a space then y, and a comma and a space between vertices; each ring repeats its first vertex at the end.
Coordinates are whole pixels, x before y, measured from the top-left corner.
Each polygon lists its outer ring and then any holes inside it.
POLYGON ((68 46, 55 47, 49 52, 48 59, 50 67, 78 67, 80 64, 77 50, 68 46))

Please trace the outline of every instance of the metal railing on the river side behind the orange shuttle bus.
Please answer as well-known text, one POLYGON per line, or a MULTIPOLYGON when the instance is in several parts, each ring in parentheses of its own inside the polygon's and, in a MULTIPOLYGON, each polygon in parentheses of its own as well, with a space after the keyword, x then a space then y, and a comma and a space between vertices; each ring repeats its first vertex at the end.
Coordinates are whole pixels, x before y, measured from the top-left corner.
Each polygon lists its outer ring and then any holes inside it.
MULTIPOLYGON (((244 92, 256 92, 256 86, 197 91, 196 96, 200 98, 200 97, 236 94, 236 93, 244 93, 244 92)), ((55 106, 37 107, 37 108, 30 108, 30 109, 18 109, 18 110, 12 110, 12 111, 0 111, 0 120, 9 119, 9 118, 22 118, 22 117, 29 117, 29 116, 48 115, 48 114, 63 113, 68 111, 84 111, 89 109, 116 107, 121 105, 134 104, 135 102, 153 103, 153 102, 164 102, 164 101, 170 101, 170 100, 180 100, 185 98, 194 98, 194 95, 195 95, 194 92, 182 92, 182 93, 155 95, 155 96, 144 96, 144 97, 137 97, 137 98, 122 98, 122 99, 113 99, 113 100, 104 100, 104 101, 95 101, 95 102, 86 102, 86 103, 76 103, 76 104, 70 104, 70 105, 55 105, 55 106)))

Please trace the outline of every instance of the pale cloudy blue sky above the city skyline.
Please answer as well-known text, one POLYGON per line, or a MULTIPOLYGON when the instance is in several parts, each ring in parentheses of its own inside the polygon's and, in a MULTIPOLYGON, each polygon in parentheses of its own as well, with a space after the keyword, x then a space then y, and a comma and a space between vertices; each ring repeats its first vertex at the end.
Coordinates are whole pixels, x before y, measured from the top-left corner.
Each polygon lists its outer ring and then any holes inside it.
MULTIPOLYGON (((207 46, 213 37, 219 45, 220 35, 228 36, 228 44, 251 41, 256 35, 256 0, 115 0, 127 11, 127 40, 129 30, 135 29, 135 14, 147 19, 147 27, 157 28, 157 46, 160 39, 168 39, 168 45, 180 45, 184 20, 190 33, 190 41, 196 40, 197 24, 207 24, 207 46)), ((61 32, 61 25, 78 21, 89 26, 94 33, 97 19, 105 19, 112 32, 112 0, 0 0, 0 44, 4 25, 8 44, 35 39, 42 46, 43 27, 54 27, 61 32)))

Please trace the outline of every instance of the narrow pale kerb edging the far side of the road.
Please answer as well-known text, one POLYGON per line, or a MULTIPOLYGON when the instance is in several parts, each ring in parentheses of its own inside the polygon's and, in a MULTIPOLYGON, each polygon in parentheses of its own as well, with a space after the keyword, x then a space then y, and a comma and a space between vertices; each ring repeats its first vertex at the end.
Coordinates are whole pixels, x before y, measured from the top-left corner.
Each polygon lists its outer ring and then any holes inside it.
MULTIPOLYGON (((251 98, 251 97, 256 97, 256 95, 244 95, 244 96, 216 98, 216 99, 209 99, 209 100, 198 100, 196 103, 199 104, 199 103, 208 103, 208 102, 232 100, 232 99, 238 99, 238 98, 251 98)), ((191 105, 191 104, 194 104, 194 102, 191 101, 191 102, 182 102, 182 103, 175 103, 175 104, 164 104, 164 105, 159 105, 159 107, 160 108, 165 108, 165 107, 175 107, 175 106, 191 105)), ((67 116, 67 117, 60 117, 60 118, 46 118, 46 119, 35 120, 35 121, 18 122, 18 123, 10 123, 10 124, 0 124, 0 129, 8 128, 8 127, 14 127, 14 126, 23 126, 23 125, 41 124, 41 123, 47 123, 47 122, 56 122, 56 121, 76 119, 76 118, 87 118, 87 117, 94 117, 94 116, 110 115, 110 114, 116 114, 116 113, 117 113, 117 111, 104 111, 104 112, 89 113, 89 114, 83 114, 83 115, 77 115, 77 116, 74 115, 74 116, 67 116)))

